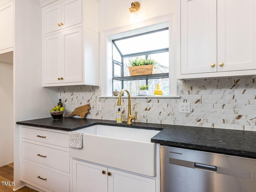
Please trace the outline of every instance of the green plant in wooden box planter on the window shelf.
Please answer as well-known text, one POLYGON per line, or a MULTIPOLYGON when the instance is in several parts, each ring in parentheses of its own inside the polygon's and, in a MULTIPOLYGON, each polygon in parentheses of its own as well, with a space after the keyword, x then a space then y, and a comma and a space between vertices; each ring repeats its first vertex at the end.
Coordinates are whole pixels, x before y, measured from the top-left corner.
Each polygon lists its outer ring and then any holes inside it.
POLYGON ((134 75, 148 75, 152 74, 153 70, 156 69, 157 62, 154 59, 138 59, 130 61, 129 71, 131 76, 134 75))

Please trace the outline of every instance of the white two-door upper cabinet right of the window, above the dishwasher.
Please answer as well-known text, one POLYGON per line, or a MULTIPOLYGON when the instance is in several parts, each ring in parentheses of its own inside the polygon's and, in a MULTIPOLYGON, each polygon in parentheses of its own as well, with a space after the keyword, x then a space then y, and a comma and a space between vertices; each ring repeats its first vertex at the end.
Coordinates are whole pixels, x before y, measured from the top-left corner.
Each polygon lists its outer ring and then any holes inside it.
POLYGON ((255 0, 180 0, 178 78, 256 74, 255 0))

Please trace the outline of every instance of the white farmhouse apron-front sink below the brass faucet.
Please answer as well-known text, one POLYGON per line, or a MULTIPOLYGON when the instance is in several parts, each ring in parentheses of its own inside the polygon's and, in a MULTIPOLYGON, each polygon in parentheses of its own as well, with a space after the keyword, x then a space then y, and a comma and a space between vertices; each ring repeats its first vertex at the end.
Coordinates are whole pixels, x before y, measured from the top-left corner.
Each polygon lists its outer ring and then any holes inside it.
POLYGON ((82 149, 70 148, 70 156, 147 176, 156 175, 157 130, 94 125, 84 132, 82 149))

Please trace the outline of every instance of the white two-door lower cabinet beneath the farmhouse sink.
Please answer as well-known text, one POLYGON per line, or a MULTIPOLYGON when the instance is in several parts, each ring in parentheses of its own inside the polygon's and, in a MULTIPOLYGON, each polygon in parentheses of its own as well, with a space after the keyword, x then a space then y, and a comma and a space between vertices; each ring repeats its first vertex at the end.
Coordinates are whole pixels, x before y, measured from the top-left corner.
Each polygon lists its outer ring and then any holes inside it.
POLYGON ((156 192, 156 180, 72 160, 73 192, 156 192))

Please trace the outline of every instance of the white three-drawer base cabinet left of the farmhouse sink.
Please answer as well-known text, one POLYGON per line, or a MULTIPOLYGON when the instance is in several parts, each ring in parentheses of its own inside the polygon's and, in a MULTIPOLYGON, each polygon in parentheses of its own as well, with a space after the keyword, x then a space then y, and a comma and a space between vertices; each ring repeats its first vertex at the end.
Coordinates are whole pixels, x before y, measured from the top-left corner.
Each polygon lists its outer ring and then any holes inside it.
POLYGON ((21 178, 45 192, 70 192, 67 131, 21 126, 21 178))

